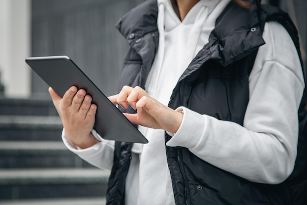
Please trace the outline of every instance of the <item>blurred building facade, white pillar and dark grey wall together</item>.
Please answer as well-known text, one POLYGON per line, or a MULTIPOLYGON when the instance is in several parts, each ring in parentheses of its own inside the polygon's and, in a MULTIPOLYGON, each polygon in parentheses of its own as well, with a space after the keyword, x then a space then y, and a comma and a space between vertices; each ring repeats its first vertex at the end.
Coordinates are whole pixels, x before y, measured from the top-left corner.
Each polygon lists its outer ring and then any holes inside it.
POLYGON ((119 18, 143 0, 0 0, 0 92, 47 96, 26 57, 67 55, 106 94, 117 91, 127 43, 119 18))

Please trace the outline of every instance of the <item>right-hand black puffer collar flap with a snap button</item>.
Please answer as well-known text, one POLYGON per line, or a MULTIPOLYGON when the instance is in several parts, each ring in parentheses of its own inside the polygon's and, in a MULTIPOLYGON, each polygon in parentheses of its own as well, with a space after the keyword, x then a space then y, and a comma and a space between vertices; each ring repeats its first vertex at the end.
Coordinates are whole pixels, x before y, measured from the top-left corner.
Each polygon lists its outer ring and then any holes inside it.
POLYGON ((232 1, 229 3, 209 36, 212 59, 226 66, 265 44, 257 12, 257 6, 248 11, 232 1))

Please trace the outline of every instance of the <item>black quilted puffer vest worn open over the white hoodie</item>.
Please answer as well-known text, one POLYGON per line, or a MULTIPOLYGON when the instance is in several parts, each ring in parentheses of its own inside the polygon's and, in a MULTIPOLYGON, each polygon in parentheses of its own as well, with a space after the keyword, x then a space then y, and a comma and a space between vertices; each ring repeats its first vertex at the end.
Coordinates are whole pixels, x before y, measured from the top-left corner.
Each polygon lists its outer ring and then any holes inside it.
MULTIPOLYGON (((117 24, 130 46, 120 88, 124 85, 144 88, 158 46, 157 10, 156 0, 147 0, 117 24)), ((255 9, 250 12, 230 2, 217 19, 209 43, 180 77, 169 107, 185 106, 242 125, 249 102, 248 77, 257 50, 265 43, 262 31, 267 21, 278 21, 288 30, 300 55, 298 34, 286 13, 272 6, 260 7, 259 2, 255 2, 255 9)), ((278 185, 248 181, 206 163, 187 148, 166 146, 176 205, 307 205, 306 100, 304 94, 299 110, 295 169, 278 185)), ((134 111, 128 108, 123 112, 134 111)), ((165 134, 166 142, 170 138, 165 134)), ((107 205, 124 205, 131 147, 131 143, 115 144, 107 205)))

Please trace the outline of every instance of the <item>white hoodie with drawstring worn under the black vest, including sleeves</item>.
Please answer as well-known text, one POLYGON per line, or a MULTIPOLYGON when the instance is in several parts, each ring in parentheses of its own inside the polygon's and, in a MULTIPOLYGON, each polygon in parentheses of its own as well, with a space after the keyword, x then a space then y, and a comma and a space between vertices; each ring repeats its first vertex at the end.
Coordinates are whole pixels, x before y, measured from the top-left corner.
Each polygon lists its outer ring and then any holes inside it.
MULTIPOLYGON (((167 105, 180 75, 208 42, 215 20, 230 0, 201 0, 180 22, 169 0, 158 0, 159 49, 146 82, 146 91, 167 105), (164 25, 163 25, 164 24, 164 25), (201 32, 201 35, 199 35, 201 32), (174 64, 175 62, 175 64, 174 64)), ((178 132, 167 146, 184 146, 212 165, 260 183, 280 183, 291 172, 296 157, 297 110, 304 80, 296 49, 278 23, 265 25, 249 76, 250 101, 243 127, 186 108, 178 132), (193 137, 192 137, 193 136, 193 137)), ((98 105, 99 106, 99 105, 98 105)), ((164 130, 139 126, 146 145, 135 144, 126 180, 127 205, 174 205, 166 162, 164 130)), ((93 165, 110 170, 114 142, 103 140, 78 149, 65 145, 93 165)))

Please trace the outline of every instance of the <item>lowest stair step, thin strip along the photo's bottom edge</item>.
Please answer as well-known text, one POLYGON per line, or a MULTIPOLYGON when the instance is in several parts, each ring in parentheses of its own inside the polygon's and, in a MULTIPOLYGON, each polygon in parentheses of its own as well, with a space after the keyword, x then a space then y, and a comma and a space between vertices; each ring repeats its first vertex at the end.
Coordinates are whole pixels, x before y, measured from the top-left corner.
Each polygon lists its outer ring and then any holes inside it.
POLYGON ((105 205, 105 198, 0 201, 0 205, 105 205))

